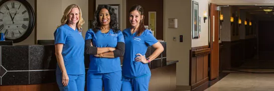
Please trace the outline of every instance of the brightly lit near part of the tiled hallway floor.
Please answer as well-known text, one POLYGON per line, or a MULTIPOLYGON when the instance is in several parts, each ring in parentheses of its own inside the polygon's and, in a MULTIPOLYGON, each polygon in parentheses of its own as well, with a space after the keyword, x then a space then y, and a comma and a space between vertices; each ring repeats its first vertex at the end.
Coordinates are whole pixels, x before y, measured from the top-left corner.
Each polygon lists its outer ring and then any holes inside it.
POLYGON ((205 91, 273 90, 272 73, 229 73, 205 91))

